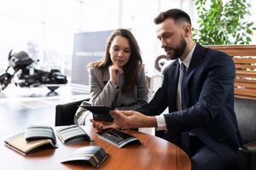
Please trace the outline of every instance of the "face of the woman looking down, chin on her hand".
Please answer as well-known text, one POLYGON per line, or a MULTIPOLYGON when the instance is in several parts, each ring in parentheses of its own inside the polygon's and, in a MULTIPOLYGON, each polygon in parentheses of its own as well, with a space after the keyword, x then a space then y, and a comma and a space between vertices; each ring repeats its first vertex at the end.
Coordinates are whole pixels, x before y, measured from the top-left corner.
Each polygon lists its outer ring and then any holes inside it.
POLYGON ((122 68, 131 56, 129 41, 125 37, 114 37, 109 48, 109 54, 113 65, 118 65, 122 68))

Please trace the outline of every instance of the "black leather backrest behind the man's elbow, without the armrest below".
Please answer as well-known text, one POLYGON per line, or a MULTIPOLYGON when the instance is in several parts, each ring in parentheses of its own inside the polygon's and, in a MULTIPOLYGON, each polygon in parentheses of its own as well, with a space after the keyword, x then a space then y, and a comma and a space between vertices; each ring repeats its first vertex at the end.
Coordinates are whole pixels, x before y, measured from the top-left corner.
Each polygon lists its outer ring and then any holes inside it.
POLYGON ((256 101, 235 99, 235 111, 243 144, 256 141, 256 101))

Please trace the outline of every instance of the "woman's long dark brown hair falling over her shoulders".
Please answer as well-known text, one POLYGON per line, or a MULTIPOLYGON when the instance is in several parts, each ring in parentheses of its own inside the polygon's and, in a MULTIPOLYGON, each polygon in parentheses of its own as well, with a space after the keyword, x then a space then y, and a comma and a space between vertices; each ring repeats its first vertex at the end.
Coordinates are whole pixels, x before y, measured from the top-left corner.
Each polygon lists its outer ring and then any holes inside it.
POLYGON ((123 67, 123 71, 125 74, 124 86, 120 87, 123 94, 129 94, 132 88, 134 88, 135 84, 137 83, 137 72, 139 71, 143 63, 143 59, 140 53, 140 48, 137 44, 137 40, 131 34, 131 31, 128 31, 126 29, 118 29, 116 31, 113 31, 113 34, 108 39, 103 58, 99 61, 90 63, 88 67, 91 67, 91 68, 97 67, 97 68, 103 69, 112 65, 112 61, 110 59, 110 54, 109 54, 109 48, 111 46, 111 43, 113 42, 113 38, 116 36, 125 37, 128 40, 131 48, 130 59, 123 67))

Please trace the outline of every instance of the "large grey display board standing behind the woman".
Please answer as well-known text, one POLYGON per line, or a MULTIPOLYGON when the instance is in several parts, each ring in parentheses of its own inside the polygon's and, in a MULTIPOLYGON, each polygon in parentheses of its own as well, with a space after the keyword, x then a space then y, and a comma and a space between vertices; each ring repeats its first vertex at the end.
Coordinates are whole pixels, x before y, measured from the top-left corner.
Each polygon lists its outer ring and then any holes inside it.
POLYGON ((74 35, 71 82, 89 85, 87 65, 102 59, 111 31, 80 32, 74 35))

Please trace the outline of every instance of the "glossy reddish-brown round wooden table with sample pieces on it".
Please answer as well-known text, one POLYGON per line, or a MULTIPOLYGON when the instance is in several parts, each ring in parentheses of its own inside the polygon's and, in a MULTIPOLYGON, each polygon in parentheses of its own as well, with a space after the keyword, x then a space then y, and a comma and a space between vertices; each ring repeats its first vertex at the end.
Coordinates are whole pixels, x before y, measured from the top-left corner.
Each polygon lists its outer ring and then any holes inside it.
MULTIPOLYGON (((86 126, 83 128, 94 140, 93 142, 75 139, 66 144, 62 144, 61 141, 57 139, 59 145, 58 149, 37 150, 26 156, 22 156, 4 145, 3 140, 12 136, 14 133, 9 133, 9 136, 6 137, 2 136, 0 138, 2 142, 2 144, 0 144, 0 169, 96 169, 87 164, 61 163, 61 160, 67 157, 73 150, 88 145, 100 145, 110 155, 108 159, 102 163, 101 167, 97 169, 186 170, 191 167, 189 156, 176 145, 164 139, 147 133, 125 131, 126 133, 136 136, 143 144, 132 144, 118 148, 96 137, 96 130, 93 127, 86 126)), ((22 130, 20 130, 20 132, 21 131, 22 130)))

